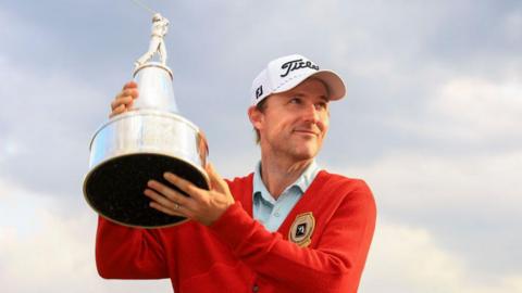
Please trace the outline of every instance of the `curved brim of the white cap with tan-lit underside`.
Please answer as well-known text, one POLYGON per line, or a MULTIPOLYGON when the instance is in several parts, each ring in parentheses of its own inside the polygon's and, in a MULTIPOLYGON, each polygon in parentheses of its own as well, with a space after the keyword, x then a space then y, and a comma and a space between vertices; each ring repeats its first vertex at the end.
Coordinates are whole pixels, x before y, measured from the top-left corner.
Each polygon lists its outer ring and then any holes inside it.
POLYGON ((284 86, 279 87, 276 91, 274 91, 274 93, 290 90, 310 77, 318 78, 326 85, 328 89, 330 100, 340 100, 346 95, 345 82, 343 81, 340 76, 338 76, 332 71, 319 71, 303 74, 286 82, 284 86))

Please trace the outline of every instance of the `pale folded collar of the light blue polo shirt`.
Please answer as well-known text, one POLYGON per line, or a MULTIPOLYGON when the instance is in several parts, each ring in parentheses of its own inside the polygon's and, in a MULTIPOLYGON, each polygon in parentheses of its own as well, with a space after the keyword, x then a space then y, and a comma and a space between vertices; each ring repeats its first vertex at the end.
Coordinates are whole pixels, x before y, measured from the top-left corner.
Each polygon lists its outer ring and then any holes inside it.
MULTIPOLYGON (((285 191, 283 191, 283 193, 291 188, 298 189, 300 194, 304 193, 304 191, 307 191, 312 183, 313 179, 315 179, 315 176, 319 171, 319 166, 315 163, 315 160, 313 160, 312 163, 310 163, 310 165, 308 165, 308 167, 301 174, 301 176, 299 176, 294 183, 289 184, 285 191)), ((272 194, 270 194, 269 190, 264 186, 263 180, 261 179, 261 162, 258 163, 253 171, 253 196, 259 196, 257 194, 260 194, 265 202, 275 204, 274 198, 272 194)))

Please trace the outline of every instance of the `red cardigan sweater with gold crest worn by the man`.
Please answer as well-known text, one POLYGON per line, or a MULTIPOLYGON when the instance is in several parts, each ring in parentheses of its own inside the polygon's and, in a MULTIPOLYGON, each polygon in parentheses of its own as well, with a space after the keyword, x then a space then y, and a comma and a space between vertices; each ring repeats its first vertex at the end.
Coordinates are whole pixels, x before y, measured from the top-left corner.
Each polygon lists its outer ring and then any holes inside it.
POLYGON ((210 227, 187 221, 136 229, 100 217, 100 276, 171 278, 176 293, 357 292, 375 228, 375 203, 364 181, 320 171, 273 233, 252 219, 252 174, 228 186, 236 203, 210 227), (315 228, 301 247, 288 232, 308 212, 315 228))

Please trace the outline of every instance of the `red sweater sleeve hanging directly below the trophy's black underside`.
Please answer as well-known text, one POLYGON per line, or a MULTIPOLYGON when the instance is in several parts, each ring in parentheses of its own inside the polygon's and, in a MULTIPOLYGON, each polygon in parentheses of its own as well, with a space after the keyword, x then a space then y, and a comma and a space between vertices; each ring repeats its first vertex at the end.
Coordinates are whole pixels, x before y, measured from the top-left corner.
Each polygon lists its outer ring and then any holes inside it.
POLYGON ((96 265, 107 279, 167 278, 165 254, 157 230, 124 227, 98 218, 96 265))

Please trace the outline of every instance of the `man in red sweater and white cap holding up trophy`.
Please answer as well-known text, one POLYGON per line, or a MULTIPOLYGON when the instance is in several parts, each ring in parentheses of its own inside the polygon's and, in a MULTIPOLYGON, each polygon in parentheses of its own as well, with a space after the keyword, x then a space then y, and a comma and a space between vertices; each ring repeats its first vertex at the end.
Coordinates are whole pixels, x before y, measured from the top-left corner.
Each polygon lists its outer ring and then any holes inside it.
MULTIPOLYGON (((104 278, 171 278, 175 292, 357 292, 375 227, 364 181, 321 170, 314 157, 328 129, 330 101, 343 80, 301 55, 270 62, 252 84, 248 116, 261 162, 211 190, 173 174, 151 180, 150 206, 192 220, 133 229, 99 219, 97 265, 104 278)), ((138 97, 127 84, 112 103, 125 112, 138 97)), ((144 187, 145 188, 145 187, 144 187)))

